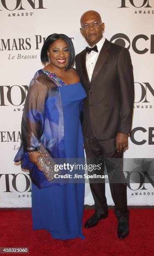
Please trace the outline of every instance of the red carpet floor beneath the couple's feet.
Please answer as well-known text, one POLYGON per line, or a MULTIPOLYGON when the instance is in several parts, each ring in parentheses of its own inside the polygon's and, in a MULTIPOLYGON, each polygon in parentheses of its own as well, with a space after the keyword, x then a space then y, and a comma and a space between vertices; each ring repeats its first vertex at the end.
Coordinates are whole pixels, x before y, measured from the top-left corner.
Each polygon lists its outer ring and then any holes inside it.
MULTIPOLYGON (((93 214, 85 210, 83 221, 93 214)), ((0 247, 29 247, 29 255, 52 256, 153 256, 154 209, 130 210, 130 234, 117 238, 114 210, 91 229, 83 228, 85 240, 53 240, 46 230, 32 230, 31 210, 0 210, 0 247)), ((19 255, 19 254, 14 254, 19 255)))

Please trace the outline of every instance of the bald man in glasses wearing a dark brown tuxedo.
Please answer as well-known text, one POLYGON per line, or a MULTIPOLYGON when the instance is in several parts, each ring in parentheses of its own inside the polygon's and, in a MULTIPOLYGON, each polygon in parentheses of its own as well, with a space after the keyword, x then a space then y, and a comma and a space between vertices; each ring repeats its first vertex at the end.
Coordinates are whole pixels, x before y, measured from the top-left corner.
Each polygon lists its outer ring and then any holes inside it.
MULTIPOLYGON (((124 239, 129 233, 129 211, 123 152, 128 147, 134 104, 131 57, 126 48, 104 39, 104 23, 96 11, 83 13, 80 30, 88 43, 76 56, 76 69, 87 94, 83 103, 86 157, 88 164, 98 164, 100 159, 103 167, 106 164, 118 219, 118 237, 124 239)), ((95 173, 103 174, 103 167, 95 173)), ((86 221, 86 228, 94 227, 108 216, 105 183, 92 179, 89 182, 95 213, 86 221)))

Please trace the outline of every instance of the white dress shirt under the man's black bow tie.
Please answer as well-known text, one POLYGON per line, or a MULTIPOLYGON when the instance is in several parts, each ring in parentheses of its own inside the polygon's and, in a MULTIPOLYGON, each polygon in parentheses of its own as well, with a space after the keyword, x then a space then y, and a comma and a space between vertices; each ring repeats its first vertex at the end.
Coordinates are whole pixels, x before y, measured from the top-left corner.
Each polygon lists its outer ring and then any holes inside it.
MULTIPOLYGON (((91 81, 91 77, 93 74, 93 69, 95 67, 96 61, 98 59, 99 53, 101 51, 101 48, 105 42, 105 38, 102 37, 101 40, 96 44, 98 52, 96 51, 91 51, 90 54, 86 54, 86 68, 88 72, 88 77, 89 80, 91 81)), ((88 45, 88 47, 92 48, 91 46, 88 45)))

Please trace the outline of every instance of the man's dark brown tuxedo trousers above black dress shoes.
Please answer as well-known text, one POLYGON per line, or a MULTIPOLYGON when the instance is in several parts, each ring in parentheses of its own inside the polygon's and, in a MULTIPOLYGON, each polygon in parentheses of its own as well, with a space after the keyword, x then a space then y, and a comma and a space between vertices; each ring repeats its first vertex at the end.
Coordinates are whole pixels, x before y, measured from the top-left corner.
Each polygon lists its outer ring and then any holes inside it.
MULTIPOLYGON (((104 174, 106 165, 112 199, 115 204, 115 214, 119 222, 128 222, 127 185, 123 172, 123 152, 116 151, 116 138, 100 141, 91 132, 89 138, 84 138, 87 164, 100 164, 101 169, 88 171, 88 174, 104 174)), ((108 213, 105 196, 105 180, 89 179, 91 192, 95 201, 95 213, 108 213)))

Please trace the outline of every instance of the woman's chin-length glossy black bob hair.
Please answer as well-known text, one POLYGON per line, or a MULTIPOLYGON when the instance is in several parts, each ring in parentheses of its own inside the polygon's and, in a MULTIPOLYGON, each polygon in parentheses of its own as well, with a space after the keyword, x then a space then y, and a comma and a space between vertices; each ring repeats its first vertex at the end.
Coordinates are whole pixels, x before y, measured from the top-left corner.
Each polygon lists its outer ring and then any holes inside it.
POLYGON ((71 39, 64 35, 64 34, 51 34, 49 35, 43 46, 42 46, 42 50, 41 50, 41 54, 40 54, 40 59, 41 61, 45 64, 45 62, 48 62, 48 54, 47 54, 47 51, 48 49, 50 48, 50 45, 53 44, 53 42, 55 42, 57 39, 63 39, 67 46, 68 46, 68 52, 69 52, 69 61, 68 61, 68 64, 66 66, 66 70, 68 70, 69 68, 71 68, 71 66, 73 66, 74 64, 74 61, 75 61, 75 50, 74 50, 74 46, 73 46, 73 43, 71 41, 71 39))

